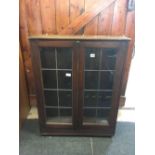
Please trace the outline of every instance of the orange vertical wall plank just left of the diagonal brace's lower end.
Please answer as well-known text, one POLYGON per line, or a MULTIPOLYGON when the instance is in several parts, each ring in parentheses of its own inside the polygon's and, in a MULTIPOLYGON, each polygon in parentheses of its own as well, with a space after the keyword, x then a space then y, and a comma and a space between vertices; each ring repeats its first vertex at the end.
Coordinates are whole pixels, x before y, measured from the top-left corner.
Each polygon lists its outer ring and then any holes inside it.
POLYGON ((55 34, 55 0, 40 0, 42 31, 44 34, 55 34))

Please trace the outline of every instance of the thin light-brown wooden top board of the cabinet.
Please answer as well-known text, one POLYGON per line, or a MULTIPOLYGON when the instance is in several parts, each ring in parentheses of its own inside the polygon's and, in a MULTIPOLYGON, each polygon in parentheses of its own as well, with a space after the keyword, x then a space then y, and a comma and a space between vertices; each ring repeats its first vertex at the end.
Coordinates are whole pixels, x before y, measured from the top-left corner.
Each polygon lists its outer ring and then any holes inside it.
POLYGON ((104 35, 32 35, 30 40, 131 40, 126 36, 104 36, 104 35))

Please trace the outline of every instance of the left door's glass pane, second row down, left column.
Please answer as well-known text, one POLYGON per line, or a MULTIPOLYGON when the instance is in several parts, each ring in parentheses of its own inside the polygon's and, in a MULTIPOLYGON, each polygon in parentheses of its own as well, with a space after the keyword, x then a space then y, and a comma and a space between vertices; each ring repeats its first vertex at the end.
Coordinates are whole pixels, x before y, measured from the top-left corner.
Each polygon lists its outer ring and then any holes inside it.
POLYGON ((44 88, 57 88, 56 71, 43 70, 42 76, 44 88))

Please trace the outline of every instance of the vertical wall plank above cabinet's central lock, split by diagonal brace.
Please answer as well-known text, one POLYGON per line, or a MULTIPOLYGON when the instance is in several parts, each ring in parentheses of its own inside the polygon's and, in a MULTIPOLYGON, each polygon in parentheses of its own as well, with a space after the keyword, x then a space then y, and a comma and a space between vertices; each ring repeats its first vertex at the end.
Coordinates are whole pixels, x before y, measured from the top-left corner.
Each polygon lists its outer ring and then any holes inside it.
MULTIPOLYGON (((84 0, 70 0, 70 23, 84 12, 84 0)), ((83 34, 81 29, 76 34, 83 34)))

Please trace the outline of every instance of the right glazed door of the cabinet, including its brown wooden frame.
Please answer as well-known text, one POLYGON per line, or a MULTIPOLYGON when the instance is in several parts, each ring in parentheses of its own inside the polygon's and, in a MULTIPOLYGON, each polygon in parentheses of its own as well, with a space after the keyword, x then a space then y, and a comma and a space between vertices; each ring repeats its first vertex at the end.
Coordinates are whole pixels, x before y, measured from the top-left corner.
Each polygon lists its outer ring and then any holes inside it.
POLYGON ((125 58, 123 46, 118 42, 81 42, 81 128, 105 128, 115 125, 125 58))

